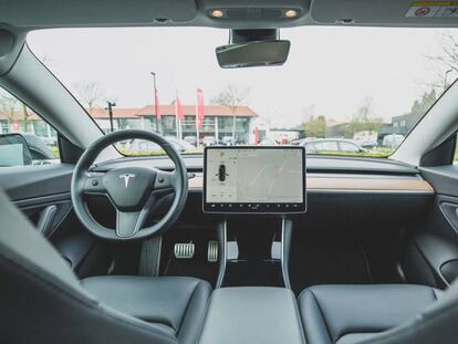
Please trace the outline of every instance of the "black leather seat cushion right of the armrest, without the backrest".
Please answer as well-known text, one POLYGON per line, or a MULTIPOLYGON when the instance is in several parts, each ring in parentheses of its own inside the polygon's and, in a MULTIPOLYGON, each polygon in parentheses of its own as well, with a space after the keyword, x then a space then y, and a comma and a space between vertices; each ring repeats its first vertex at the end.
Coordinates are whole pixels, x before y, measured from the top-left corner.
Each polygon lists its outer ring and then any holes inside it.
POLYGON ((301 293, 299 310, 309 344, 372 342, 415 319, 440 293, 412 284, 316 285, 301 293))

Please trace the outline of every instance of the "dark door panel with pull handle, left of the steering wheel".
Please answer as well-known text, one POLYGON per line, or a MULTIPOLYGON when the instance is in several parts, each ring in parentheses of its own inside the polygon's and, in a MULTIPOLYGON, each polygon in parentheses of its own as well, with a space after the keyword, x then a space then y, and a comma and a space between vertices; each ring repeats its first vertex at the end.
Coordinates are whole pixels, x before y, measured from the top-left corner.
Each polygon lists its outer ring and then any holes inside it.
POLYGON ((106 274, 107 242, 91 236, 77 220, 70 196, 73 165, 0 168, 0 187, 58 249, 80 278, 106 274))

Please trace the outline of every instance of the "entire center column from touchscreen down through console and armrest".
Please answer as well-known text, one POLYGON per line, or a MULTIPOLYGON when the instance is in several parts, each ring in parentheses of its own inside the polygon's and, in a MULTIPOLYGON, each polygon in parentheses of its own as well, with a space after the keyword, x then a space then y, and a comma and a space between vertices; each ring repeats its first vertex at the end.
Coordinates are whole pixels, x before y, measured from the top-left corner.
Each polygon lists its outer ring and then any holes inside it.
POLYGON ((288 273, 291 217, 305 196, 303 147, 205 149, 202 209, 218 219, 219 272, 200 344, 305 343, 288 273))

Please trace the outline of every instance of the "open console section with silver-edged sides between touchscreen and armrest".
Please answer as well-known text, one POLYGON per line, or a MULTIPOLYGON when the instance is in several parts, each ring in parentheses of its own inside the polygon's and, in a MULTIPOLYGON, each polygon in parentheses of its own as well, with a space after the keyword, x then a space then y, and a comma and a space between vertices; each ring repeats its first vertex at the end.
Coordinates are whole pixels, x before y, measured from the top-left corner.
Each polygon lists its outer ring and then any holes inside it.
POLYGON ((231 217, 219 222, 216 288, 269 285, 290 289, 293 222, 281 217, 231 217))

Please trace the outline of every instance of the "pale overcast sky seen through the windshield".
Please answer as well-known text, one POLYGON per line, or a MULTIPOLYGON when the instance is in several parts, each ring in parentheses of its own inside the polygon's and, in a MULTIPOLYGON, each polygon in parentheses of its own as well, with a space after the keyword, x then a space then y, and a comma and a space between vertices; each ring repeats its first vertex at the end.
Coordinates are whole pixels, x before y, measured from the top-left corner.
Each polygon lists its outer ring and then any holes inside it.
MULTIPOLYGON (((308 27, 282 29, 291 41, 283 66, 222 70, 215 49, 228 30, 210 28, 59 29, 34 31, 28 43, 65 85, 97 81, 119 107, 160 104, 178 92, 183 104, 205 102, 232 84, 249 88, 246 104, 277 127, 306 119, 306 108, 326 119, 348 121, 367 96, 389 122, 437 81, 427 55, 441 53, 440 29, 308 27)), ((457 35, 458 30, 450 33, 457 35)), ((455 75, 449 75, 449 82, 455 75)))

